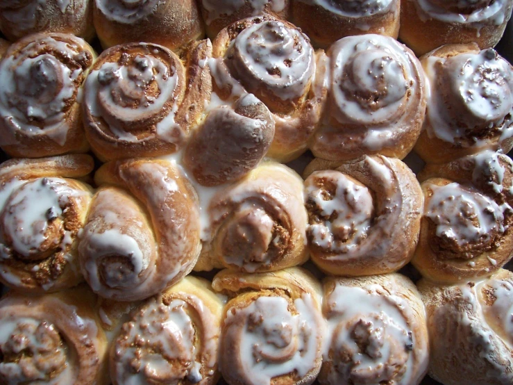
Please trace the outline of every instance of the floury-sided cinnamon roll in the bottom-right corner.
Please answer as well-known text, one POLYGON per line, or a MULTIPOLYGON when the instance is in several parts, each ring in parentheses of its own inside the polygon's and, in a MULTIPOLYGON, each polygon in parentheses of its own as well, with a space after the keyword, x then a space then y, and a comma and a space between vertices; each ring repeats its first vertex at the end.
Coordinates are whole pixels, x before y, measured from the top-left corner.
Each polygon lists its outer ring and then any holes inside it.
POLYGON ((419 282, 430 334, 429 375, 445 385, 513 382, 513 274, 457 286, 419 282))

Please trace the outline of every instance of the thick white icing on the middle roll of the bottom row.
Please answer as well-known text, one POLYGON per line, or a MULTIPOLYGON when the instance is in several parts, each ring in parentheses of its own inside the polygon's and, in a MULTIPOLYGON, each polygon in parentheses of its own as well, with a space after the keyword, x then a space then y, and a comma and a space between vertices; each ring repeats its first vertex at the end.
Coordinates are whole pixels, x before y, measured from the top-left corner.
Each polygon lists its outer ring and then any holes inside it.
POLYGON ((294 300, 296 315, 288 306, 283 297, 258 297, 249 306, 226 311, 225 341, 240 340, 229 349, 242 361, 245 383, 271 384, 272 378, 294 371, 304 377, 315 367, 321 331, 312 297, 294 300))

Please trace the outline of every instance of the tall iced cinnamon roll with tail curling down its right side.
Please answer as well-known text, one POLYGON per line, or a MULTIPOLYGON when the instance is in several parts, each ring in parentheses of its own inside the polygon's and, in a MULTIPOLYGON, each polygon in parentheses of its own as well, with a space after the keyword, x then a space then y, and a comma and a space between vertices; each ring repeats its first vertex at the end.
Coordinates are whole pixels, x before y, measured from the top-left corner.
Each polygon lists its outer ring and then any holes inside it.
POLYGON ((251 92, 276 123, 268 156, 291 161, 306 149, 326 96, 326 55, 294 25, 271 16, 224 28, 209 62, 216 95, 230 100, 251 92))

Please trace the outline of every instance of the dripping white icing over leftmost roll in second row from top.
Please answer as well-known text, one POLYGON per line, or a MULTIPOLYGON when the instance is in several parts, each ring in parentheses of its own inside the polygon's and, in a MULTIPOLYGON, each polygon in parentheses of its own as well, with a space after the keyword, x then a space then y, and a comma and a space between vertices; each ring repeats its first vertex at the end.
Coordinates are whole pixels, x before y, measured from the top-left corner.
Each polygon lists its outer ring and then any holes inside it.
POLYGON ((65 118, 69 106, 76 102, 76 79, 82 69, 72 70, 60 56, 72 59, 80 54, 79 49, 82 50, 45 37, 0 62, 0 116, 9 130, 0 144, 15 144, 16 131, 28 136, 48 136, 61 146, 65 144, 69 130, 65 118), (46 53, 42 49, 46 46, 52 47, 58 56, 46 53))

